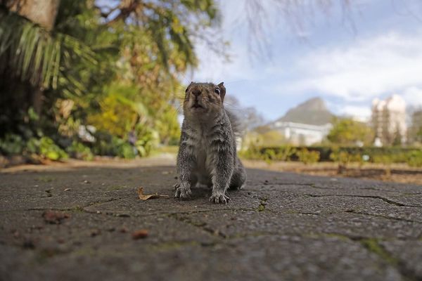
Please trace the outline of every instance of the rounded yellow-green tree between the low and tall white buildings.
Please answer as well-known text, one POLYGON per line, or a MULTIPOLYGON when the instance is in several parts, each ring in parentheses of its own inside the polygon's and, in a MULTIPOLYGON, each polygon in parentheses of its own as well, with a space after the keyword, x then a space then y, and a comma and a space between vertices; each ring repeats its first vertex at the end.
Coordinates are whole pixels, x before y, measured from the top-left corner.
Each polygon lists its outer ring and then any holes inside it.
POLYGON ((362 122, 353 119, 337 119, 328 133, 328 141, 338 145, 371 145, 373 142, 372 129, 362 122))

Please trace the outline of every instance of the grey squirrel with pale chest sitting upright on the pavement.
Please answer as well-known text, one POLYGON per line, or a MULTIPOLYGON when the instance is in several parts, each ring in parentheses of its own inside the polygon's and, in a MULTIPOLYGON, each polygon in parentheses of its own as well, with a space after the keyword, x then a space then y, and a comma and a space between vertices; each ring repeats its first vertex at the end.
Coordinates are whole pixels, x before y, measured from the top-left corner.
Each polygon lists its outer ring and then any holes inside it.
POLYGON ((236 154, 236 117, 224 108, 224 83, 191 82, 186 89, 174 197, 191 197, 197 183, 212 187, 210 202, 227 204, 227 189, 241 189, 246 171, 236 154))

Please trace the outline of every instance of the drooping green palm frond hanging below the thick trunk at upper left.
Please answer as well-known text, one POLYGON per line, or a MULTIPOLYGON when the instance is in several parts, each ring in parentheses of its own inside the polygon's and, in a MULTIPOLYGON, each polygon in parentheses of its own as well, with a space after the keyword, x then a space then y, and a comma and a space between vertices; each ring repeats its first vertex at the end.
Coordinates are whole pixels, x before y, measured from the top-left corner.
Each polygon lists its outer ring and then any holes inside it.
POLYGON ((8 67, 22 81, 57 89, 59 81, 77 84, 63 75, 63 65, 70 65, 68 60, 75 56, 97 63, 91 48, 74 37, 48 32, 17 13, 0 10, 0 58, 7 62, 0 70, 8 67))

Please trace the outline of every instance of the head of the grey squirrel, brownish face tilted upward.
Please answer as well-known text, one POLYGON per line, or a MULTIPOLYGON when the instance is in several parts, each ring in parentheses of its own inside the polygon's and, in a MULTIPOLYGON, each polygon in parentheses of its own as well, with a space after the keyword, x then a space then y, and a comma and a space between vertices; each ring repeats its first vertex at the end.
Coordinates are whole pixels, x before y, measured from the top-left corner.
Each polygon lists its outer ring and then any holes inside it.
POLYGON ((184 98, 185 117, 207 117, 217 115, 222 111, 226 88, 223 82, 215 85, 212 83, 193 83, 186 88, 184 98))

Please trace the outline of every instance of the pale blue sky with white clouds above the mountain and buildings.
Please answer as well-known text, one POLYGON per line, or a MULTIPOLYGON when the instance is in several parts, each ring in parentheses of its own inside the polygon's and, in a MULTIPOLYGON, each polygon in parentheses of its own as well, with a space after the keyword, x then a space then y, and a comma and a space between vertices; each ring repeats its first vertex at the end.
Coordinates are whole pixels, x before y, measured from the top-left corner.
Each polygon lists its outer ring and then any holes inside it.
POLYGON ((250 10, 263 20, 258 37, 248 29, 248 1, 218 2, 230 61, 199 44, 200 63, 184 76, 186 84, 224 81, 226 95, 255 107, 268 121, 316 96, 336 115, 362 121, 369 119, 374 98, 393 93, 407 105, 422 106, 421 0, 354 0, 347 11, 334 0, 326 13, 305 6, 291 17, 274 1, 262 0, 265 14, 250 10), (267 51, 259 51, 256 42, 264 42, 260 46, 267 51))

